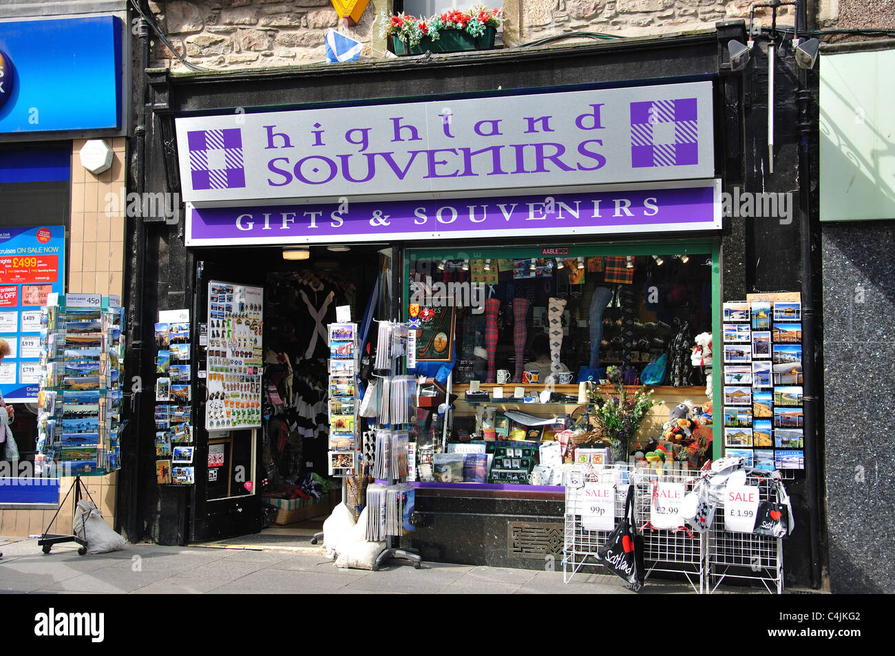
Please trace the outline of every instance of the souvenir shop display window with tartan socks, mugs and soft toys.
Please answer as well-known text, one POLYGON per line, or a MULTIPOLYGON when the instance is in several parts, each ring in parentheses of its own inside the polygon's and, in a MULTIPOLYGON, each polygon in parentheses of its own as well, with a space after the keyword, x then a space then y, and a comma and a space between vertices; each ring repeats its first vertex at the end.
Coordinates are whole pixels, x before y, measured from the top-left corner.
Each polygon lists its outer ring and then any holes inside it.
POLYGON ((421 403, 423 484, 549 491, 584 458, 718 455, 694 356, 720 341, 717 241, 550 243, 405 252, 423 389, 456 395, 443 421, 421 403))

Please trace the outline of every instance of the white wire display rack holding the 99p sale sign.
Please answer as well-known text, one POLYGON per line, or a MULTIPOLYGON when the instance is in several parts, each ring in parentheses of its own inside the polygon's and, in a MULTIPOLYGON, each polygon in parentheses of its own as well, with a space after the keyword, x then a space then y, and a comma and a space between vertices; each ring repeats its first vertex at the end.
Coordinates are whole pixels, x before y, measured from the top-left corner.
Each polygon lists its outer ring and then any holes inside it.
POLYGON ((602 571, 597 562, 599 550, 609 538, 611 531, 589 531, 581 522, 584 504, 584 483, 616 482, 615 516, 625 514, 629 465, 614 465, 612 468, 594 468, 589 465, 575 467, 568 473, 566 481, 566 521, 563 542, 563 582, 568 583, 579 572, 594 574, 602 571), (618 480, 623 482, 618 483, 618 480))

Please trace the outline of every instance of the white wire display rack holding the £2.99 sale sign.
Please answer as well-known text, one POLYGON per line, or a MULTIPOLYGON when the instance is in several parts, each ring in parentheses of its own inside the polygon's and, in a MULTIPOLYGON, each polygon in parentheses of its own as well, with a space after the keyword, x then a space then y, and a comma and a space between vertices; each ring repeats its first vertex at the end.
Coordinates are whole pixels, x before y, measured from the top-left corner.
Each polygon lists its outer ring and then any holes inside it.
MULTIPOLYGON (((652 484, 680 483, 684 491, 693 490, 698 473, 689 470, 672 470, 662 473, 638 471, 633 474, 635 484, 635 519, 637 528, 643 528, 644 565, 646 577, 652 572, 669 572, 684 575, 697 594, 702 594, 705 585, 705 554, 707 535, 688 528, 659 529, 650 523, 652 484)), ((681 524, 684 524, 681 520, 681 524)))

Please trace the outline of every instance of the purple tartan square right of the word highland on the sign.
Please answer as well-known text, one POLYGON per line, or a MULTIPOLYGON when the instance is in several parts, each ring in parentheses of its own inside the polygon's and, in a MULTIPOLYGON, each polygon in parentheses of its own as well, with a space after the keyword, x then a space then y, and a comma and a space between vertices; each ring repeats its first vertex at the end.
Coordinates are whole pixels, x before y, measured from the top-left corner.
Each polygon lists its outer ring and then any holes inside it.
POLYGON ((631 166, 699 164, 696 98, 631 103, 631 166))

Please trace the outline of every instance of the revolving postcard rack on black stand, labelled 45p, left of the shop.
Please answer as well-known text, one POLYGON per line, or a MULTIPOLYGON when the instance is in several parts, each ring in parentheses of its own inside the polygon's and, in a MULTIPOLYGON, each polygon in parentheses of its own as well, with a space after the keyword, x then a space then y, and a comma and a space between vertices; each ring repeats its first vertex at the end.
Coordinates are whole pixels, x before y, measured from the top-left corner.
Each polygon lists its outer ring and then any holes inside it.
POLYGON ((75 478, 38 546, 49 553, 54 544, 76 542, 82 556, 87 553, 84 538, 49 531, 72 492, 72 508, 83 493, 90 498, 82 476, 121 467, 124 310, 115 296, 50 294, 40 324, 35 472, 75 478))

